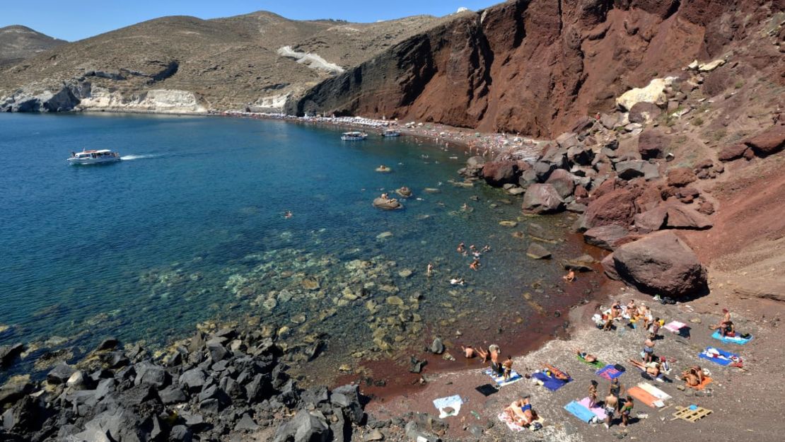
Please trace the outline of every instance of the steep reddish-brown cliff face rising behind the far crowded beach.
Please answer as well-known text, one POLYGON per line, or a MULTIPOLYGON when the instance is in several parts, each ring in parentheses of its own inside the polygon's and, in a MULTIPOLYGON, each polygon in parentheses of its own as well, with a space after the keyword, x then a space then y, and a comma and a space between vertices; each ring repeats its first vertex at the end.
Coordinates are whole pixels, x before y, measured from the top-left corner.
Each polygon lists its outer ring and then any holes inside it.
MULTIPOLYGON (((782 0, 506 2, 408 38, 287 110, 555 136, 579 116, 614 108, 626 89, 693 59, 721 57, 732 42, 763 38, 761 23, 782 21, 772 14, 783 7, 782 0)), ((750 64, 782 82, 783 33, 765 38, 750 64)))

